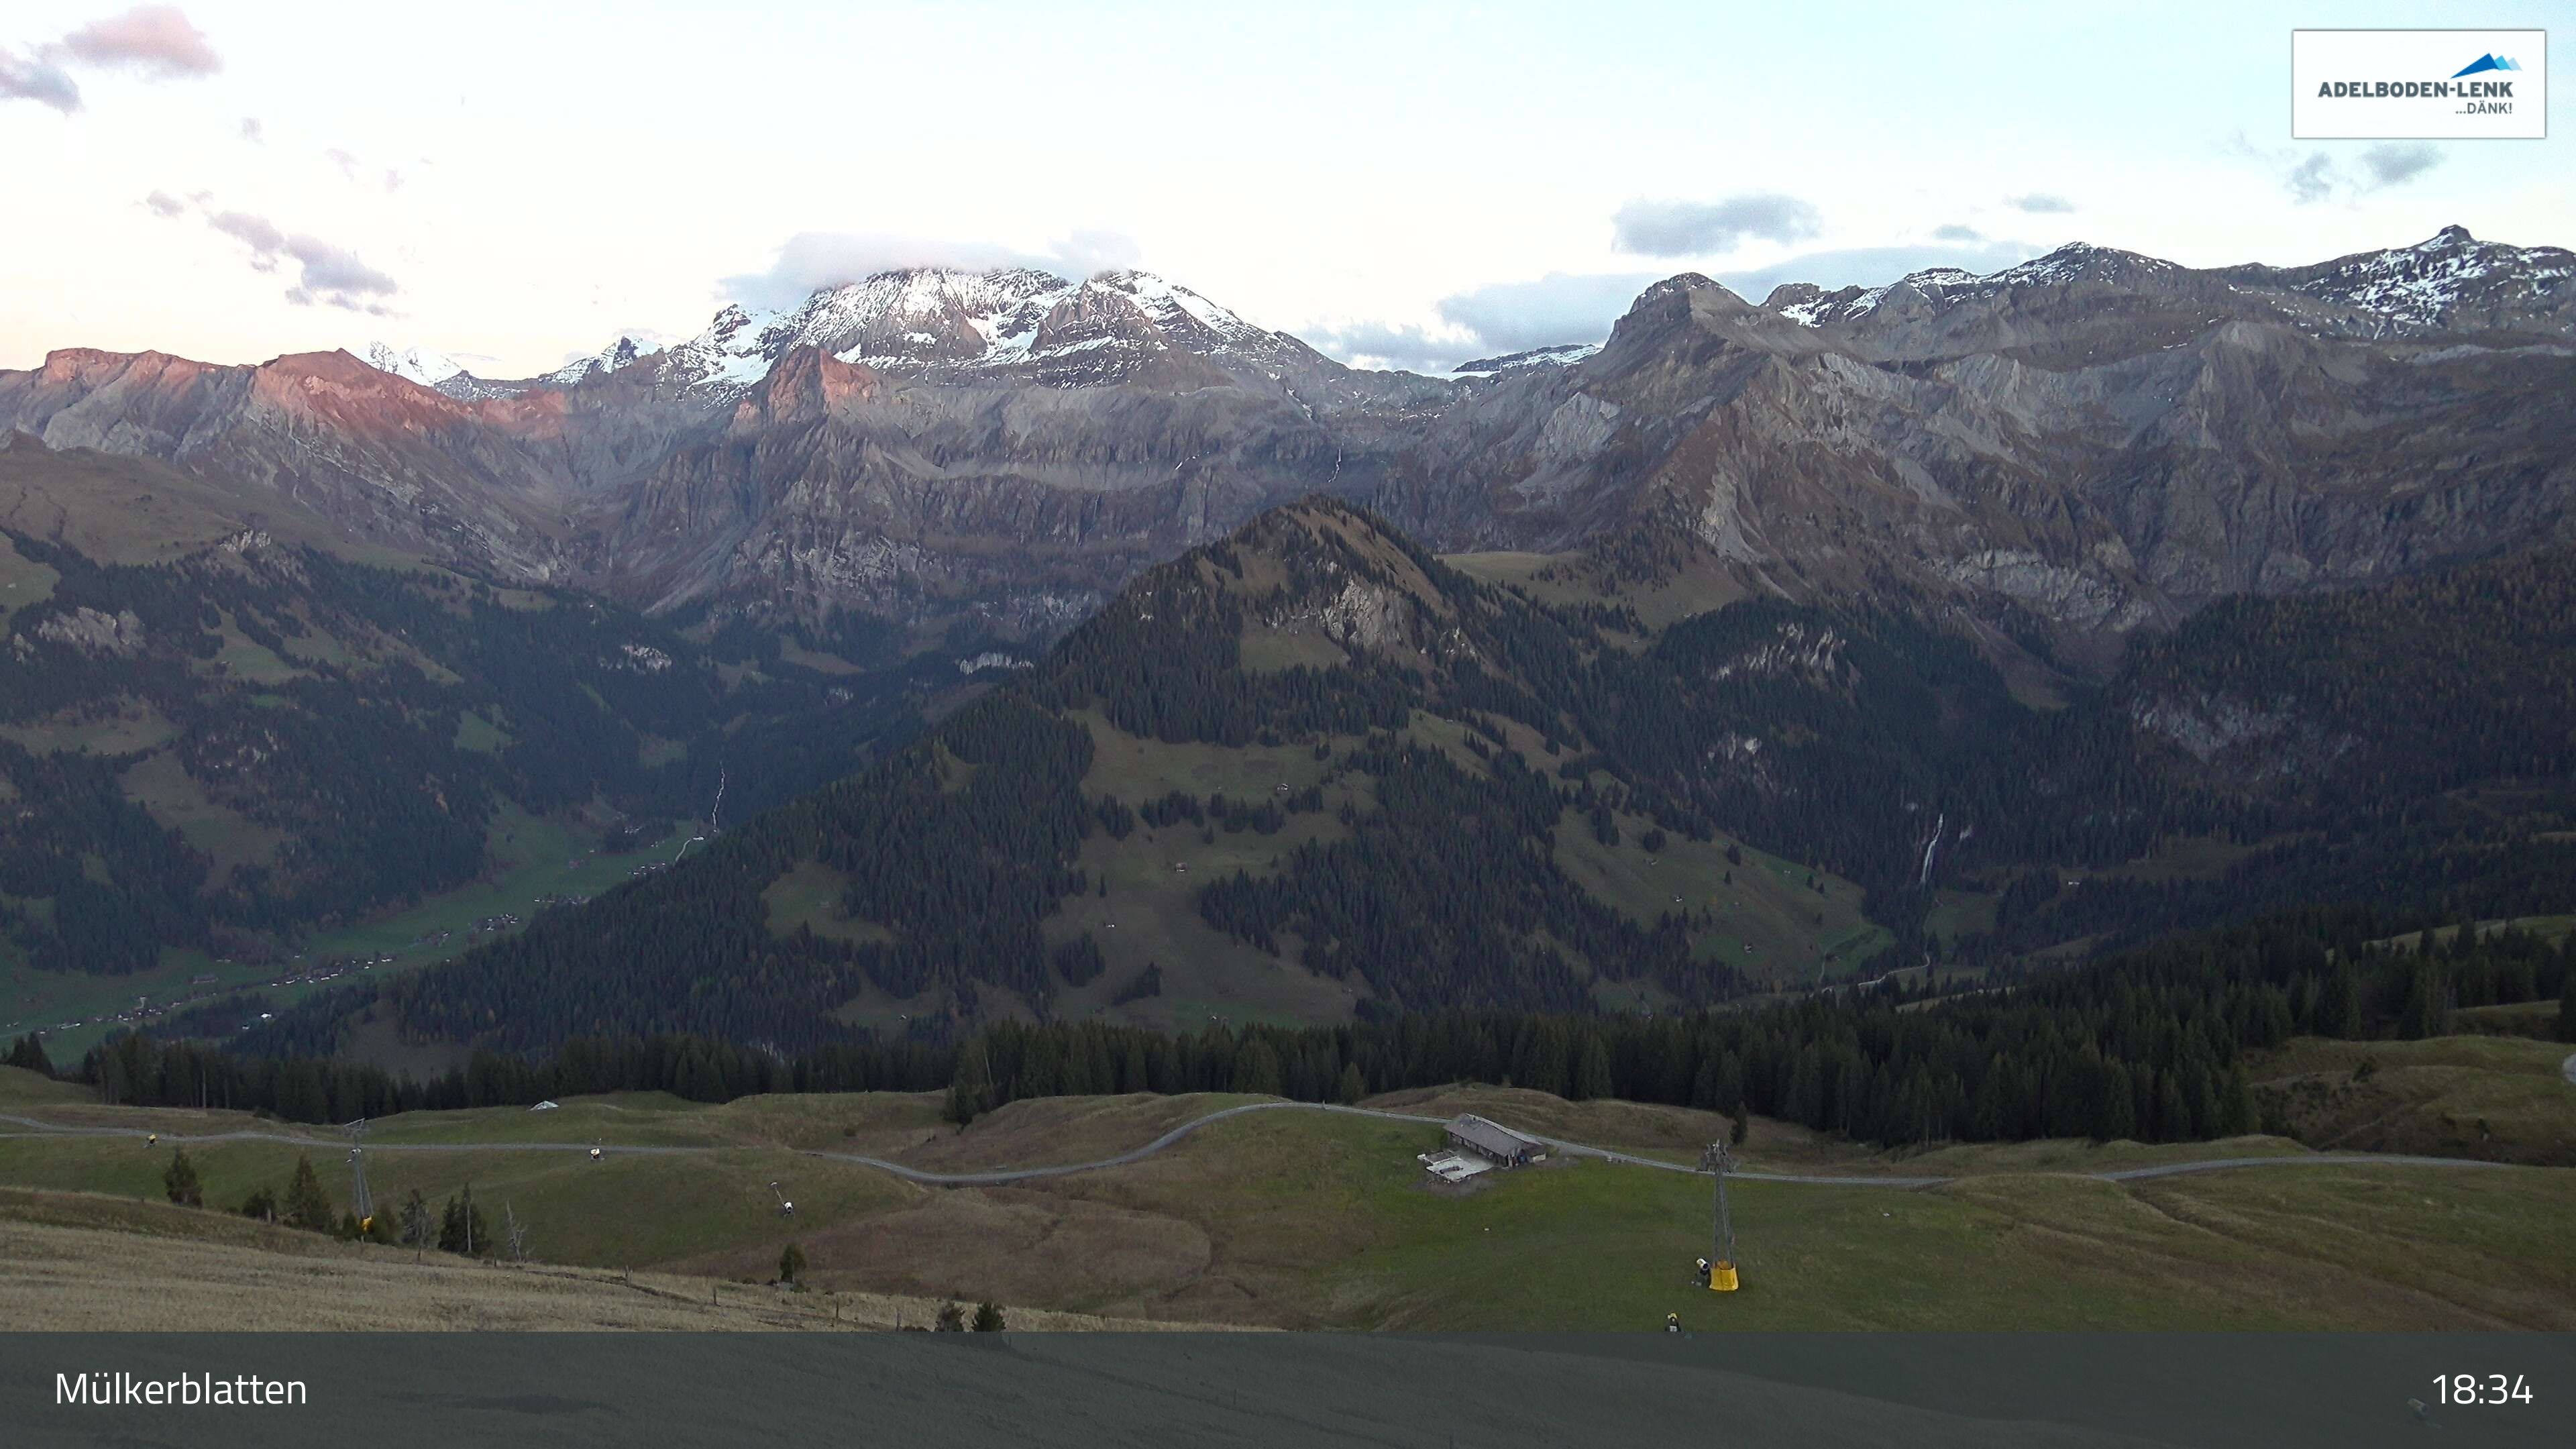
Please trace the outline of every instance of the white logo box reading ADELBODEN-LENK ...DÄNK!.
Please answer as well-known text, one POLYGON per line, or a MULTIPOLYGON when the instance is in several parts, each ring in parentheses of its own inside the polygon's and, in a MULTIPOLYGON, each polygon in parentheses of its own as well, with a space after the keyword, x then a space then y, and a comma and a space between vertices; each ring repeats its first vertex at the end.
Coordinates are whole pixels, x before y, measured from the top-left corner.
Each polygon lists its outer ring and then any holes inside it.
POLYGON ((2300 142, 2548 139, 2550 34, 2290 31, 2290 134, 2300 142))

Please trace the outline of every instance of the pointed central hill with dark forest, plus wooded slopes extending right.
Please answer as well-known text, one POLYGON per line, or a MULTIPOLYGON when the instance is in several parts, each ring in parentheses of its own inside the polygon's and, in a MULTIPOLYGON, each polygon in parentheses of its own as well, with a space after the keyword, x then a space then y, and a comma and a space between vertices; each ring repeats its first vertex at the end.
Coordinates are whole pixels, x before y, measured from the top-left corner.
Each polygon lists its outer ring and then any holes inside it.
MULTIPOLYGON (((1103 962, 1061 926, 1069 897, 1108 890, 1084 841, 1139 820, 1273 833, 1327 792, 1327 828, 1193 897, 1229 938, 1352 982, 1363 1021, 1582 1013, 1602 985, 1667 1008, 1739 995, 1734 967, 1692 949, 1705 910, 1638 920, 1566 874, 1561 835, 1615 843, 1636 830, 1623 820, 1857 879, 1896 931, 1878 969, 2009 969, 2061 941, 2117 949, 2365 900, 2561 910, 2576 900, 2563 683, 2517 694, 2517 670, 2571 660, 2568 624, 2535 619, 2571 578, 2566 554, 2535 554, 2241 601, 2035 709, 1932 614, 1765 598, 1651 632, 1618 601, 1540 603, 1309 500, 1141 575, 1041 668, 683 869, 252 1042, 319 1052, 389 1008, 415 1036, 510 1052, 600 1034, 806 1052, 866 1036, 835 1016, 863 990, 943 1003, 912 1024, 930 1036, 1048 1018, 1103 962), (2478 634, 2476 668, 2442 686, 2429 639, 2452 634, 2478 634), (1247 663, 1247 639, 1283 637, 1314 647, 1247 663), (2370 694, 2383 652, 2409 655, 2388 676, 2406 688, 2370 694), (1311 750, 1321 786, 1257 804, 1103 794, 1084 717, 1175 748, 1311 750), (2416 763, 2455 719, 2470 724, 2447 755, 2416 763), (2125 871, 2172 838, 2239 848, 2215 871, 2125 871), (770 923, 762 892, 801 861, 829 866, 866 933, 770 923), (2061 869, 2094 874, 2063 890, 2061 869), (1999 895, 1994 928, 1937 936, 1935 887, 1999 895)), ((1151 964, 1123 969, 1139 980, 1113 980, 1115 1003, 1151 995, 1151 964)))

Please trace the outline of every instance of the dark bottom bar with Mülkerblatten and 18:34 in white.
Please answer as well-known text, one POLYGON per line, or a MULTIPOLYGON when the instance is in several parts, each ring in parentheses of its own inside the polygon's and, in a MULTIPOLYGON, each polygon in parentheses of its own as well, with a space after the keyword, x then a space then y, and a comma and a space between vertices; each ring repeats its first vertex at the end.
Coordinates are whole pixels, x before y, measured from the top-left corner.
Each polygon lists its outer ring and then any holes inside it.
POLYGON ((129 1449, 2540 1446, 2576 1441, 2576 1336, 13 1333, 0 1426, 129 1449), (57 1403, 80 1377, 245 1374, 304 1403, 57 1403), (2445 1403, 2437 1374, 2504 1403, 2445 1403))

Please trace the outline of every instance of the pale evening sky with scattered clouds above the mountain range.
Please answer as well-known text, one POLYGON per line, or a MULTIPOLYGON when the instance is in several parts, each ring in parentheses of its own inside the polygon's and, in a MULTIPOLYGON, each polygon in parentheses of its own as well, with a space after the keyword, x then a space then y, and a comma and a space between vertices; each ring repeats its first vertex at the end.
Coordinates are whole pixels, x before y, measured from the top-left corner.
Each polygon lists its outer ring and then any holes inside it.
POLYGON ((13 0, 0 366, 389 340, 528 376, 724 302, 1033 260, 1430 371, 1600 338, 1680 271, 1759 302, 2069 240, 2576 245, 2566 126, 2290 139, 2298 26, 2553 21, 2576 0, 13 0))

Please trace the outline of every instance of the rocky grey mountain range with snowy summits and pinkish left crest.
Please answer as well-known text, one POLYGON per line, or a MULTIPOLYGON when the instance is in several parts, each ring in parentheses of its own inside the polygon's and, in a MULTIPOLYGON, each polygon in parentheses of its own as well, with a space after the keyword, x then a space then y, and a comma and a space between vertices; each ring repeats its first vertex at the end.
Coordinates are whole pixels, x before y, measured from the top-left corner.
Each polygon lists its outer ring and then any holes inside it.
POLYGON ((912 268, 544 379, 420 348, 54 353, 0 374, 0 428, 647 608, 1038 639, 1332 492, 1440 549, 2069 642, 2571 539, 2571 276, 2458 227, 2303 268, 2069 245, 1762 304, 1685 273, 1600 345, 1430 379, 1141 271, 912 268))

